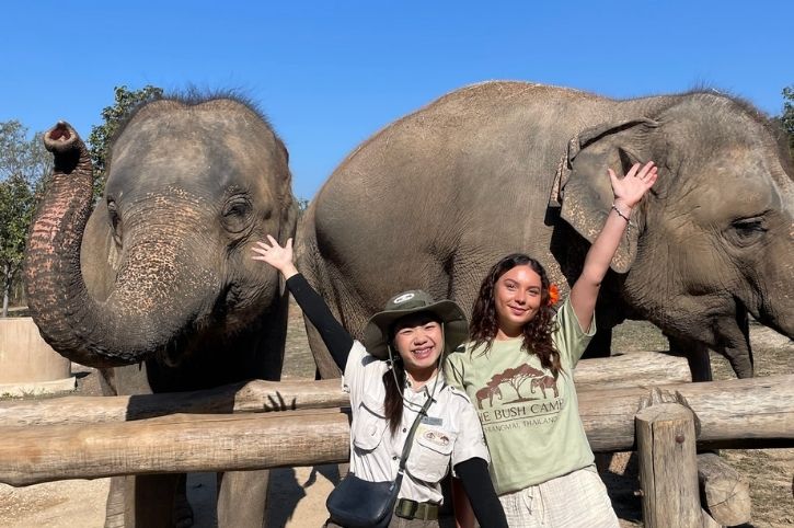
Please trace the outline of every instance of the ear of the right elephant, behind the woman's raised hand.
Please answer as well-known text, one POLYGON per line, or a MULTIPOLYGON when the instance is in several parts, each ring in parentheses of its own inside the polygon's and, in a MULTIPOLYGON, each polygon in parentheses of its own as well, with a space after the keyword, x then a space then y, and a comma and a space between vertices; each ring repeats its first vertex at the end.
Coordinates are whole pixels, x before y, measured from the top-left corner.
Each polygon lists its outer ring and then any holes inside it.
MULTIPOLYGON (((607 169, 622 177, 632 164, 651 159, 649 135, 658 126, 637 118, 586 128, 568 141, 560 162, 550 197, 551 206, 562 206, 561 216, 588 242, 601 230, 612 206, 612 187, 607 169)), ((640 229, 644 226, 641 207, 635 207, 611 267, 626 273, 636 256, 640 229)))

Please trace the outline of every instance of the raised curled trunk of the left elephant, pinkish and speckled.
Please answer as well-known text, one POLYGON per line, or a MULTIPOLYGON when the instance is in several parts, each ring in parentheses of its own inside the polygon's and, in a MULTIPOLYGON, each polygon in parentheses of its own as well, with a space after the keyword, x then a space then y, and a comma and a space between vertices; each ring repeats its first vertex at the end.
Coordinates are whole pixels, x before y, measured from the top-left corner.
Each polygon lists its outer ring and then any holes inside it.
POLYGON ((27 242, 24 276, 31 314, 47 343, 74 361, 94 367, 139 363, 183 330, 173 325, 191 320, 168 318, 174 323, 163 324, 162 309, 196 312, 198 307, 195 301, 164 303, 169 291, 154 286, 133 294, 122 278, 136 274, 135 261, 119 271, 117 284, 123 286, 106 300, 89 294, 80 246, 92 205, 90 154, 67 123, 48 130, 44 142, 55 156, 55 169, 27 242))

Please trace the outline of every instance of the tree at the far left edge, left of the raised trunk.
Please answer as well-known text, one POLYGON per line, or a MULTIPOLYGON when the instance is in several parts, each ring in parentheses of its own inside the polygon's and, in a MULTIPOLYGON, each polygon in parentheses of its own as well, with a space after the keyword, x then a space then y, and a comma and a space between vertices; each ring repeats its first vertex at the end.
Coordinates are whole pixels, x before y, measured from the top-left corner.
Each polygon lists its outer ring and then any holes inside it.
POLYGON ((45 176, 53 172, 53 157, 44 148, 42 134, 27 139, 19 120, 0 123, 0 285, 2 317, 22 269, 27 229, 35 198, 45 176))

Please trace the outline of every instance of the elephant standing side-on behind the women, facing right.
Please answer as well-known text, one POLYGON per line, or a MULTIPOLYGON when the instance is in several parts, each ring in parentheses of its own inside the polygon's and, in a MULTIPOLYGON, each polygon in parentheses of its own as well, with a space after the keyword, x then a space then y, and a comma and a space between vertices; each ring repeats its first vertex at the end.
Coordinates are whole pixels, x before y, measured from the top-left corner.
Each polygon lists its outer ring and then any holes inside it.
MULTIPOLYGON (((707 349, 752 376, 748 312, 794 336, 794 185, 758 111, 716 93, 612 101, 522 82, 452 92, 336 169, 298 231, 299 267, 358 337, 394 291, 471 310, 486 271, 521 251, 565 291, 610 210, 607 168, 659 177, 602 285, 591 348, 644 319, 707 379, 707 349)), ((337 376, 310 329, 322 377, 337 376)), ((591 351, 588 351, 591 352, 591 351)))

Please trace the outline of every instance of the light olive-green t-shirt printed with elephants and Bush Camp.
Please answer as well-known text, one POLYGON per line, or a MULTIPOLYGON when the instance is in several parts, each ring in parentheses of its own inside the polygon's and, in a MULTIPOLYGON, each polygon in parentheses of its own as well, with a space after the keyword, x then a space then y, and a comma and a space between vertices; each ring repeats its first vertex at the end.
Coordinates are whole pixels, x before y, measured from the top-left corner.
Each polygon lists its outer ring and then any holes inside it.
POLYGON ((449 355, 447 382, 465 391, 477 410, 491 451, 491 479, 502 495, 586 468, 592 451, 579 417, 573 370, 596 332, 584 332, 566 299, 555 317, 554 346, 563 371, 555 380, 522 337, 471 344, 449 355))

